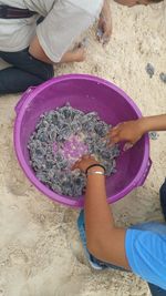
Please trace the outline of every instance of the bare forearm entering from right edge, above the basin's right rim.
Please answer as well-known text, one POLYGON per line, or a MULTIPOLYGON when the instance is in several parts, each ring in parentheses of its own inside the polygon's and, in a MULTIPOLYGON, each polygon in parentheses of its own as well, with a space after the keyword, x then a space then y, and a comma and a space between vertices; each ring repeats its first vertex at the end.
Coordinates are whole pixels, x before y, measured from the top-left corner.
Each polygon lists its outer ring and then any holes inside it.
POLYGON ((166 114, 141 119, 143 132, 166 131, 166 114))

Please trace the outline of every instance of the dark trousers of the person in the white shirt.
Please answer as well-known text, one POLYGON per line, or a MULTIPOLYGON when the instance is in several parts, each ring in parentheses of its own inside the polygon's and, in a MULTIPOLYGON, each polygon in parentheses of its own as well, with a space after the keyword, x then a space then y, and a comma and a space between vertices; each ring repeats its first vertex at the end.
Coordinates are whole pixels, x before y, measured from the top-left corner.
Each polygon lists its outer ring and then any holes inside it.
POLYGON ((12 64, 0 70, 0 94, 23 92, 39 85, 54 74, 53 65, 34 59, 28 49, 18 52, 2 52, 0 58, 12 64))

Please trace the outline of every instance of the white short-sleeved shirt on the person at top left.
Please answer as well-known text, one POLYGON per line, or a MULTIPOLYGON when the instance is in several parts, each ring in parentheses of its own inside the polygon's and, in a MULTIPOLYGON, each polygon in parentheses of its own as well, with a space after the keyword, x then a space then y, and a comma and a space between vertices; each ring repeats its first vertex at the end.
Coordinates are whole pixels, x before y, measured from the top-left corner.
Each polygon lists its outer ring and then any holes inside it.
POLYGON ((0 0, 1 4, 30 9, 38 14, 28 19, 0 19, 0 51, 21 51, 37 34, 45 54, 59 62, 98 17, 103 0, 0 0), (44 21, 37 27, 39 16, 44 21))

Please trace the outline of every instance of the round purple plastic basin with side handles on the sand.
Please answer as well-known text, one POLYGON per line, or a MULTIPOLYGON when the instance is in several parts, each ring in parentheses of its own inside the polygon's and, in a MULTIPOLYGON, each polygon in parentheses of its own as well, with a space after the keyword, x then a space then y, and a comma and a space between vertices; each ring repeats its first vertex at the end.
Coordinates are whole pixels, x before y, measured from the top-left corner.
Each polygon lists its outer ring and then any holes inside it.
MULTIPOLYGON (((49 190, 37 177, 29 163, 27 144, 39 116, 70 102, 84 112, 96 111, 102 120, 113 125, 141 118, 136 104, 116 85, 103 79, 70 74, 54 78, 30 88, 15 106, 14 147, 19 163, 28 178, 48 197, 68 206, 83 207, 83 196, 72 198, 49 190)), ((133 149, 121 153, 117 173, 106 180, 108 203, 113 203, 137 186, 142 186, 151 169, 149 141, 145 135, 133 149)))

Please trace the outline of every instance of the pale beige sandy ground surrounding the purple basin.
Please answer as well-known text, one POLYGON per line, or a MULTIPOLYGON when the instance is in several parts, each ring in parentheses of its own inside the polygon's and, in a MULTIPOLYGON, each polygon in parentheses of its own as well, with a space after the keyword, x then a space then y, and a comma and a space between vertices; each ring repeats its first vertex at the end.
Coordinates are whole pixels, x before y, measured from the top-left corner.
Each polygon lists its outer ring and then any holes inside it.
MULTIPOLYGON (((92 73, 113 81, 145 115, 166 112, 165 7, 113 7, 114 32, 103 49, 90 32, 86 62, 61 65, 56 74, 92 73), (155 67, 149 79, 146 64, 155 67)), ((76 231, 77 211, 40 194, 25 178, 12 144, 14 105, 0 98, 0 296, 145 296, 147 285, 120 272, 90 268, 76 231)), ((152 141, 153 167, 143 187, 113 205, 120 225, 162 217, 158 188, 166 170, 166 134, 152 141)))

